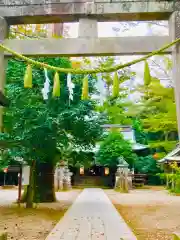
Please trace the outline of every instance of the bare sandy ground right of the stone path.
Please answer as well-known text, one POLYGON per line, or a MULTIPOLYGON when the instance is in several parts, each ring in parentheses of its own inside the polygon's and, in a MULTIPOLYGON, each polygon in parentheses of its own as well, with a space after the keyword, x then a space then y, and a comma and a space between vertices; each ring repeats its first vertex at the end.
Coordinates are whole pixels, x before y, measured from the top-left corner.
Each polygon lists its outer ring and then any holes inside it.
POLYGON ((172 240, 172 233, 180 232, 180 196, 158 187, 106 193, 138 240, 172 240))

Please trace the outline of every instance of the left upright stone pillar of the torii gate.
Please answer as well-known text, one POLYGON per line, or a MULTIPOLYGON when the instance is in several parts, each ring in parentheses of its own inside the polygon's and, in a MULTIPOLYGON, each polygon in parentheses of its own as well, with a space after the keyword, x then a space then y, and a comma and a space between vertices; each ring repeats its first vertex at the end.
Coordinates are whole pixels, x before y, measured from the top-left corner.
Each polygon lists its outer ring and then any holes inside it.
MULTIPOLYGON (((0 42, 4 41, 8 37, 9 26, 6 20, 0 17, 0 42)), ((4 93, 5 86, 5 69, 7 61, 4 58, 4 51, 0 49, 0 90, 4 93)), ((3 130, 3 107, 0 107, 0 132, 3 130)))

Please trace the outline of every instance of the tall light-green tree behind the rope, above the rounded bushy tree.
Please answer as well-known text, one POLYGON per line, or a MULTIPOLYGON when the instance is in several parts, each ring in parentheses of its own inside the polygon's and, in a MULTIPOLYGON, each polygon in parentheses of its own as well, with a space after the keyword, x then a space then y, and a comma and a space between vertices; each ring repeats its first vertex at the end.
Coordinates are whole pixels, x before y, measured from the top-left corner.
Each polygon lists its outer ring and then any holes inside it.
MULTIPOLYGON (((97 62, 100 67, 111 67, 116 63, 114 57, 101 57, 98 58, 97 62)), ((122 125, 132 123, 131 119, 126 114, 127 109, 132 105, 132 103, 128 100, 129 90, 128 86, 124 83, 130 80, 130 78, 134 75, 135 73, 130 71, 130 69, 122 69, 118 71, 119 95, 117 97, 113 97, 112 89, 114 73, 102 74, 107 93, 103 105, 98 106, 98 111, 106 115, 108 123, 122 125)))

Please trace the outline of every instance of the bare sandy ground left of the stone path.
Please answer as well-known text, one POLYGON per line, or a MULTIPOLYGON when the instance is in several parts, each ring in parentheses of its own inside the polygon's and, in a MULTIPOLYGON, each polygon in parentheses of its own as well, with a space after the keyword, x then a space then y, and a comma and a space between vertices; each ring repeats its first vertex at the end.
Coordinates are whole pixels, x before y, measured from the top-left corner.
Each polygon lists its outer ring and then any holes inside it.
POLYGON ((79 192, 57 193, 58 202, 38 204, 34 209, 25 209, 23 205, 19 208, 15 204, 1 204, 0 231, 6 231, 8 239, 44 240, 79 192))

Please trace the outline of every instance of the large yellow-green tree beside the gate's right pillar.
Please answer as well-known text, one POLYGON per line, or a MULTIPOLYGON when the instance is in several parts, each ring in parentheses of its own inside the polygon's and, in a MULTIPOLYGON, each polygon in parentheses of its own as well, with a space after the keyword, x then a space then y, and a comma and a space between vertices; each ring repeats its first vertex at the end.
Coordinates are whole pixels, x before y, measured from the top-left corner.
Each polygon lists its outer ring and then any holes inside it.
POLYGON ((141 97, 139 103, 129 109, 129 115, 141 120, 149 140, 155 137, 160 145, 170 149, 167 146, 170 144, 173 148, 177 139, 177 120, 172 85, 164 86, 159 79, 151 78, 148 86, 139 85, 135 91, 141 97))

